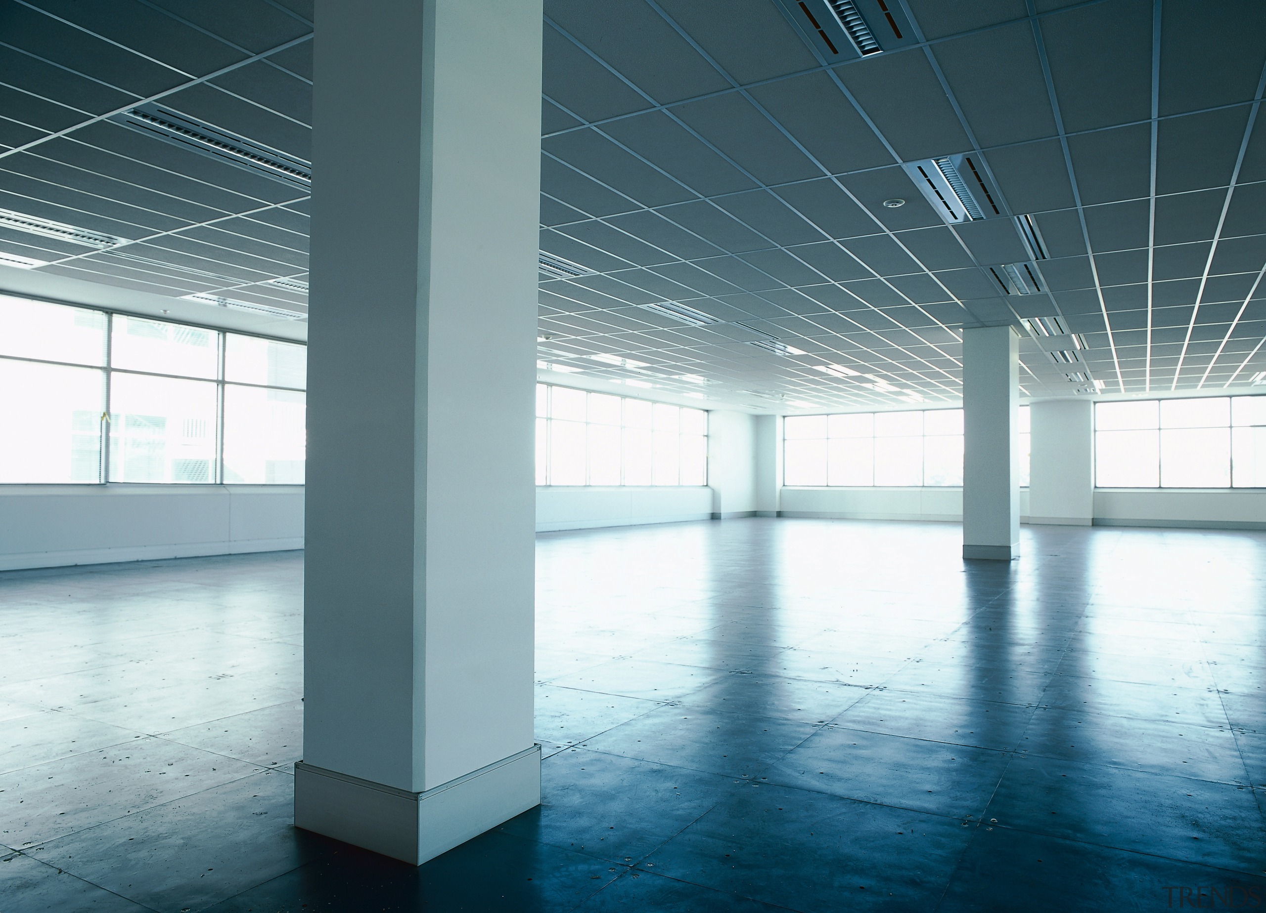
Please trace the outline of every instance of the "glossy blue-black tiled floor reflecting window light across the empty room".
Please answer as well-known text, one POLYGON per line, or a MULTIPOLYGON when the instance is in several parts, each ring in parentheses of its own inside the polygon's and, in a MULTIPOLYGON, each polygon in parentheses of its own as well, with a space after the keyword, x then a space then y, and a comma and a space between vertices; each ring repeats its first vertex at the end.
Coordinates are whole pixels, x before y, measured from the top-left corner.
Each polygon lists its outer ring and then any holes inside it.
POLYGON ((544 804, 422 869, 290 824, 300 553, 0 574, 0 909, 1266 903, 1266 535, 958 542, 541 536, 544 804))

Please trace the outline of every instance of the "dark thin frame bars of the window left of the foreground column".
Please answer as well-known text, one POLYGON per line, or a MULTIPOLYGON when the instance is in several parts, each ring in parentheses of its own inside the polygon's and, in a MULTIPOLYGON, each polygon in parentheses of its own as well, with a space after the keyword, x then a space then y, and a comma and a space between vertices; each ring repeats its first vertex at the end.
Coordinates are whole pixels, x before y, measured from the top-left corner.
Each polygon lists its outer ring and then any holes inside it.
MULTIPOLYGON (((223 326, 209 326, 206 324, 194 324, 187 320, 168 320, 166 316, 156 316, 153 314, 138 314, 135 311, 125 311, 120 309, 111 307, 95 307, 92 305, 81 303, 68 303, 66 301, 53 301, 48 298, 39 298, 30 295, 18 295, 3 292, 5 297, 16 298, 19 301, 33 301, 42 305, 56 305, 58 307, 71 307, 80 311, 95 311, 97 314, 105 315, 105 358, 103 364, 82 364, 80 362, 61 362, 47 358, 28 358, 24 355, 0 355, 0 359, 9 362, 27 362, 30 364, 49 364, 65 368, 81 368, 87 371, 99 371, 104 378, 105 388, 105 402, 104 412, 101 414, 101 434, 100 434, 100 459, 97 465, 97 481, 96 482, 0 482, 0 486, 111 486, 111 484, 128 484, 128 486, 170 486, 175 488, 195 487, 199 484, 211 484, 223 486, 224 482, 224 387, 227 384, 233 384, 238 387, 254 387, 257 389, 284 389, 287 392, 298 392, 305 395, 308 388, 305 387, 282 387, 277 384, 268 383, 249 383, 244 381, 227 381, 224 377, 224 358, 225 350, 228 348, 228 334, 235 334, 239 336, 252 336, 254 339, 262 339, 268 343, 282 343, 286 345, 299 345, 305 350, 308 343, 298 341, 294 339, 284 339, 281 336, 270 336, 263 333, 251 333, 249 330, 230 330, 223 326), (214 378, 206 377, 194 377, 190 374, 167 374, 154 371, 137 371, 133 368, 115 368, 114 367, 114 317, 123 316, 137 320, 149 320, 157 324, 168 324, 172 326, 189 326, 196 330, 206 330, 215 334, 215 346, 216 346, 216 373, 214 378), (139 377, 160 377, 168 378, 173 381, 197 381, 200 383, 213 383, 215 384, 215 478, 209 482, 111 482, 110 481, 110 440, 111 440, 111 421, 110 416, 114 415, 113 407, 114 401, 111 398, 111 379, 114 374, 133 374, 139 377)), ((238 483, 228 483, 238 484, 238 483)), ((303 487, 304 482, 263 482, 258 484, 267 484, 270 487, 303 487)))

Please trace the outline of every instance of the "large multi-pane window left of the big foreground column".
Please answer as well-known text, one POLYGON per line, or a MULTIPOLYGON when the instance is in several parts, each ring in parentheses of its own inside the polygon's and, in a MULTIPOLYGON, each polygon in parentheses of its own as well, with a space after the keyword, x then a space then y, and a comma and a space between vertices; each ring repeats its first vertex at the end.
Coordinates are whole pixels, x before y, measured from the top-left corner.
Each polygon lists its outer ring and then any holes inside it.
POLYGON ((0 295, 0 483, 303 484, 303 345, 0 295))

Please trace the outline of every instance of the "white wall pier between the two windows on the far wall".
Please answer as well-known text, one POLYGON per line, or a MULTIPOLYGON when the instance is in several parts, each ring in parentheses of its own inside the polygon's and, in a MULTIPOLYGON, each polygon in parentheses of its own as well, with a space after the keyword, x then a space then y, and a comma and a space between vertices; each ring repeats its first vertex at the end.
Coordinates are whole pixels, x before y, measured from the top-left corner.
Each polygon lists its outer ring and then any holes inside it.
POLYGON ((1090 526, 1095 515, 1094 403, 1034 402, 1029 419, 1029 522, 1090 526))

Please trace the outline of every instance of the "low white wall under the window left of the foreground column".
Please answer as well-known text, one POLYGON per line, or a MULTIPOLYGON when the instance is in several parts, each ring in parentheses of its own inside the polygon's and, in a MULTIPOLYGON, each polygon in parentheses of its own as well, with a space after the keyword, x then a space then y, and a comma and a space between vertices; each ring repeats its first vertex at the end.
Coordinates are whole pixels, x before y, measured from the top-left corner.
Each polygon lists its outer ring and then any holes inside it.
POLYGON ((0 486, 0 570, 303 546, 301 486, 0 486))

